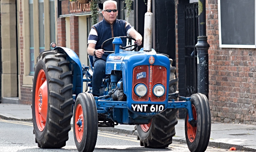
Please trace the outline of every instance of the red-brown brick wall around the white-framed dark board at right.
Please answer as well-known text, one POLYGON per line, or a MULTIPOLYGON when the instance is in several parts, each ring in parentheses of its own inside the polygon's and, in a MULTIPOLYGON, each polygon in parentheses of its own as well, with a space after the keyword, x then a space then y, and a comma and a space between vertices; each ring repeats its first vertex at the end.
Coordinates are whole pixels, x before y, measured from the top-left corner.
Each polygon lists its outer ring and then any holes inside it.
POLYGON ((206 0, 212 120, 256 125, 256 50, 219 48, 218 0, 206 0))

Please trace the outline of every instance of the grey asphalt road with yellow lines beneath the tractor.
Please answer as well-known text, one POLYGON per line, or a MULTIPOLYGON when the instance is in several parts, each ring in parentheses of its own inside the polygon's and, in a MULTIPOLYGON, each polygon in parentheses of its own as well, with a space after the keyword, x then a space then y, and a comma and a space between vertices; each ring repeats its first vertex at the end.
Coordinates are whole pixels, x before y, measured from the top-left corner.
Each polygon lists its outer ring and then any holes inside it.
MULTIPOLYGON (((165 149, 144 148, 139 145, 136 136, 117 132, 98 131, 95 152, 189 152, 187 144, 173 142, 165 149)), ((208 152, 226 152, 227 149, 208 147, 208 152)), ((35 143, 33 124, 25 121, 0 119, 0 152, 77 152, 73 129, 69 140, 61 149, 41 149, 35 143)))

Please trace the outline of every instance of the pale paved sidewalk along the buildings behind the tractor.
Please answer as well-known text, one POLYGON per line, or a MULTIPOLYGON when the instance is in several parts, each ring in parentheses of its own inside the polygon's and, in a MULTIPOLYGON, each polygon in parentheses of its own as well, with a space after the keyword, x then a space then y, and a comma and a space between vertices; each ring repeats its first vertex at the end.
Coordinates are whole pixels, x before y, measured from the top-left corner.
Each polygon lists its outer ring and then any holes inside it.
MULTIPOLYGON (((2 103, 0 104, 0 119, 32 121, 31 111, 31 105, 2 103)), ((184 120, 178 120, 173 141, 186 143, 184 123, 184 120)), ((99 130, 137 135, 135 125, 117 125, 114 128, 99 127, 99 130)), ((208 146, 223 149, 236 147, 237 150, 256 152, 256 125, 212 122, 208 146)))

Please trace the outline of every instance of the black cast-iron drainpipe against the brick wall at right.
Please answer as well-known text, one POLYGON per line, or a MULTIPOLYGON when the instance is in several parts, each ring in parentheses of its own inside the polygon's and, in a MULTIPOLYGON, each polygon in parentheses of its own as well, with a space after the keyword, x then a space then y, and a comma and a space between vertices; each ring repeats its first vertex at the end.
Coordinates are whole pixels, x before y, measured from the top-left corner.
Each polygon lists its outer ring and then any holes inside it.
POLYGON ((197 37, 197 92, 207 96, 209 94, 209 69, 208 49, 206 36, 206 0, 198 0, 198 24, 199 33, 197 37))

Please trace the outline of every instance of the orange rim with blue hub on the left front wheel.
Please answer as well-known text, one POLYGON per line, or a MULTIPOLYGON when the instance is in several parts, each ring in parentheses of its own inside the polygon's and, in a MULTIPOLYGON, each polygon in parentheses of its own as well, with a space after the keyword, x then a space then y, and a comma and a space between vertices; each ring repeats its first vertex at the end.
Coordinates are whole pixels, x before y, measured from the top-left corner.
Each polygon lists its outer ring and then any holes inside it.
MULTIPOLYGON (((83 122, 83 109, 81 104, 78 104, 76 107, 75 120, 80 120, 83 122)), ((76 124, 75 126, 76 140, 78 141, 78 143, 80 143, 83 138, 83 125, 79 126, 78 124, 76 124)))

